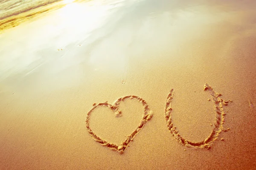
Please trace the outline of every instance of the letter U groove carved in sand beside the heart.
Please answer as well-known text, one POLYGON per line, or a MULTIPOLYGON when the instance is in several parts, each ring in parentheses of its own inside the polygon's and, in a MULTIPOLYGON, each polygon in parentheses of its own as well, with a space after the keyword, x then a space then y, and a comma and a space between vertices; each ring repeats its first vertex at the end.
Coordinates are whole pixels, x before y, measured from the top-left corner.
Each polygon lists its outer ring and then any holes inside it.
POLYGON ((223 124, 224 124, 224 117, 225 117, 225 112, 223 109, 223 106, 228 105, 229 102, 232 102, 231 100, 224 100, 221 99, 220 96, 221 94, 216 93, 213 91, 213 88, 208 85, 207 83, 204 85, 204 91, 209 91, 210 95, 212 96, 212 102, 214 102, 214 107, 215 107, 215 112, 216 112, 216 122, 214 125, 214 128, 212 129, 211 134, 204 139, 203 141, 200 142, 192 142, 187 139, 184 139, 182 136, 180 136, 177 127, 175 127, 172 124, 172 98, 173 98, 173 92, 174 90, 172 89, 170 93, 167 96, 166 99, 166 107, 165 107, 165 119, 166 119, 166 124, 171 132, 172 136, 179 142, 180 144, 185 145, 186 147, 200 147, 200 148, 210 148, 210 144, 214 142, 216 139, 218 139, 219 133, 221 131, 227 131, 229 128, 224 129, 223 124))

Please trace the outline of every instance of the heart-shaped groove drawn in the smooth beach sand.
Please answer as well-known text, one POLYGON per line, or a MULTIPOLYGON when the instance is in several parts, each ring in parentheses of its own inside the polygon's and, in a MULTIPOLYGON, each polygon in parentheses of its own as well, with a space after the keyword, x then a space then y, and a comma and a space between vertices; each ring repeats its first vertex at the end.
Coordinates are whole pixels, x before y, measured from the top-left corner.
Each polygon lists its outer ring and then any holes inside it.
POLYGON ((108 147, 112 150, 119 151, 119 153, 123 153, 124 150, 126 149, 126 147, 129 146, 129 143, 133 140, 133 138, 137 135, 137 133, 139 133, 140 129, 145 125, 145 123, 149 119, 151 119, 152 116, 153 116, 153 114, 151 113, 151 111, 148 107, 148 104, 144 99, 142 99, 139 96, 129 95, 129 96, 120 97, 119 99, 117 99, 114 102, 113 105, 109 104, 108 102, 99 103, 98 105, 94 104, 94 107, 87 113, 86 128, 87 128, 88 132, 90 133, 90 135, 93 137, 93 139, 96 142, 99 142, 103 146, 108 147), (99 136, 96 135, 96 133, 94 133, 92 131, 92 129, 90 127, 90 115, 93 113, 93 111, 95 111, 96 108, 107 107, 113 113, 115 113, 116 116, 121 116, 122 112, 119 111, 119 104, 120 104, 120 102, 122 102, 126 99, 137 99, 140 103, 142 103, 142 105, 144 107, 144 113, 143 113, 142 119, 140 120, 139 125, 137 126, 137 128, 130 135, 127 136, 127 139, 125 139, 125 141, 122 142, 120 145, 117 145, 117 144, 105 141, 104 139, 101 139, 99 136))

